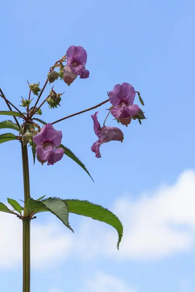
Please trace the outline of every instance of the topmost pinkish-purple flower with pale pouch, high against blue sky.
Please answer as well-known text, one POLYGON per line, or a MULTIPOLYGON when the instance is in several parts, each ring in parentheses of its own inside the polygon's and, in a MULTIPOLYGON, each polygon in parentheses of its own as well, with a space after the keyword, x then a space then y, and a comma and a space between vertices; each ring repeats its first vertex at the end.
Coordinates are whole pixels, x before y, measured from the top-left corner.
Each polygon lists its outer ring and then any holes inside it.
POLYGON ((80 46, 70 46, 66 52, 67 65, 63 69, 63 80, 70 85, 79 75, 80 78, 88 78, 89 71, 85 69, 87 53, 80 46))

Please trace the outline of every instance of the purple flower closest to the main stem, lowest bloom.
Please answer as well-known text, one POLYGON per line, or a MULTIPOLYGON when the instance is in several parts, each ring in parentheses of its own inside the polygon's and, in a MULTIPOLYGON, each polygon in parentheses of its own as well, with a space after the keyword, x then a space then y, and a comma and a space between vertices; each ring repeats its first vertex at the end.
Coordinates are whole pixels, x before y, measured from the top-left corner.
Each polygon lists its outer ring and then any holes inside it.
POLYGON ((55 130, 51 123, 46 124, 39 134, 33 136, 33 142, 37 145, 37 159, 41 163, 47 161, 47 165, 54 165, 61 160, 64 149, 57 148, 61 144, 62 132, 55 130))

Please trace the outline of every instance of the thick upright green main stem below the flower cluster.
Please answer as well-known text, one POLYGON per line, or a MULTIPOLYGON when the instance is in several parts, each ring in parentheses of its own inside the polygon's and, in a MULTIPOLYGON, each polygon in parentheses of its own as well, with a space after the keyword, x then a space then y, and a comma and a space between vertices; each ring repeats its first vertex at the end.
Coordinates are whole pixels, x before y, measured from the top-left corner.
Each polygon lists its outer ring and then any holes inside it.
POLYGON ((30 198, 28 148, 21 143, 23 181, 24 181, 24 218, 23 224, 23 292, 30 292, 30 218, 27 200, 30 198))

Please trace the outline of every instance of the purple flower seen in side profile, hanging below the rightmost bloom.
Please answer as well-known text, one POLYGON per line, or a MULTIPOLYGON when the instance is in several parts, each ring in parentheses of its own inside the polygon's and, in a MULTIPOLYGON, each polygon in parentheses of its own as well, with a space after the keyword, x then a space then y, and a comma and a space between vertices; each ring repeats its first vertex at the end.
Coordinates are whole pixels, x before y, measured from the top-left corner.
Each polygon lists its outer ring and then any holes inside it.
POLYGON ((91 146, 91 150, 96 153, 96 157, 100 158, 101 154, 99 152, 99 147, 103 143, 107 143, 110 141, 123 141, 124 136, 122 131, 116 127, 102 127, 98 122, 98 111, 95 114, 91 115, 92 119, 94 120, 94 131, 98 136, 98 141, 94 142, 91 146))

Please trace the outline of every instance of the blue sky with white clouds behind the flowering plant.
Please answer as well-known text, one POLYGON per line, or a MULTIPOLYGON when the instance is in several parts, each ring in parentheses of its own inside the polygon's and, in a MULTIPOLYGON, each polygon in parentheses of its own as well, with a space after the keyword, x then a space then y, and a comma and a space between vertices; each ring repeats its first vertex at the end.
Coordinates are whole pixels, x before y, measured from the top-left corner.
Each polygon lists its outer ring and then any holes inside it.
MULTIPOLYGON (((117 234, 103 223, 71 216, 73 235, 53 216, 39 215, 32 222, 32 292, 194 292, 194 26, 193 0, 1 3, 0 87, 14 104, 28 95, 26 80, 43 85, 74 44, 87 51, 90 78, 70 87, 57 81, 56 91, 65 91, 61 107, 45 105, 42 119, 92 107, 123 82, 140 91, 148 118, 121 126, 123 143, 101 146, 101 159, 90 150, 94 111, 56 124, 95 183, 69 158, 33 166, 30 157, 32 197, 93 201, 125 227, 117 252, 117 234)), ((6 110, 3 101, 0 108, 6 110)), ((99 108, 101 123, 106 108, 99 108)), ((112 117, 107 125, 116 126, 112 117)), ((0 148, 1 201, 22 200, 20 144, 0 148)), ((0 216, 1 289, 20 292, 21 222, 0 216)))

